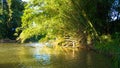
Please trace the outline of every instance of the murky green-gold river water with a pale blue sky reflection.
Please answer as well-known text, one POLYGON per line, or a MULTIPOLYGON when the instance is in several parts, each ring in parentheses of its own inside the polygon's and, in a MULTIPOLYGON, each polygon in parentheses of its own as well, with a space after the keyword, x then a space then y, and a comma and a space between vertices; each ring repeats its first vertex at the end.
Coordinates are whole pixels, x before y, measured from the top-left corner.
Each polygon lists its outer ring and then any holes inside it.
POLYGON ((0 44, 0 68, 112 68, 110 58, 92 51, 0 44))

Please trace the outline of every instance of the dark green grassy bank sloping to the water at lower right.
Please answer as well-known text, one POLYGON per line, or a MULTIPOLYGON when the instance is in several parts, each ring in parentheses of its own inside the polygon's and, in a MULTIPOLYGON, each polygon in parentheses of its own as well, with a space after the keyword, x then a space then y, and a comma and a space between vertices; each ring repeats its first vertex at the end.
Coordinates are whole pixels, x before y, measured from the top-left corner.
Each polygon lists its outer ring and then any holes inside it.
POLYGON ((94 48, 99 53, 112 57, 113 68, 120 68, 120 34, 114 34, 101 42, 95 42, 94 48))

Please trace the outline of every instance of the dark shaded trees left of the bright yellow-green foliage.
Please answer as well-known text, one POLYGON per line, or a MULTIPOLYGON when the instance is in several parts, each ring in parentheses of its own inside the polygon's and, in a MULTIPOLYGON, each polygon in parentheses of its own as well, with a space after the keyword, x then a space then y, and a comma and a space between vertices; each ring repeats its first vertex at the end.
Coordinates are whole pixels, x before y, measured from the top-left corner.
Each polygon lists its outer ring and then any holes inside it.
POLYGON ((0 38, 15 39, 15 29, 21 26, 24 3, 21 0, 1 0, 0 38))

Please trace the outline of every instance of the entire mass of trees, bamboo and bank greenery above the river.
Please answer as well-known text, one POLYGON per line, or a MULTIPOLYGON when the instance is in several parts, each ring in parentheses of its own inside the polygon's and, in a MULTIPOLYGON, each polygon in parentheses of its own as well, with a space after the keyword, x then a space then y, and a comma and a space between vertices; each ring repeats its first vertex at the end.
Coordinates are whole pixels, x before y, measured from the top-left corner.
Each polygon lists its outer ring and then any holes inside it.
POLYGON ((1 39, 82 45, 112 55, 116 68, 120 67, 119 0, 31 0, 29 3, 8 0, 5 3, 0 10, 1 39))

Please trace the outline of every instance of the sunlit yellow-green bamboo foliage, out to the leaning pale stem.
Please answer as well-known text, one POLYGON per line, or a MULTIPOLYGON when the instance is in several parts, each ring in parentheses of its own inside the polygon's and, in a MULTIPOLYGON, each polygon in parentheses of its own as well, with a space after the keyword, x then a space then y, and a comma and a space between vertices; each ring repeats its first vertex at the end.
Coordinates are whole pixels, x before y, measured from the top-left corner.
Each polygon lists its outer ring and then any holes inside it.
MULTIPOLYGON (((81 7, 80 0, 32 0, 25 7, 22 16, 22 30, 25 31, 32 27, 36 29, 39 27, 38 31, 45 32, 45 37, 56 39, 58 36, 61 38, 70 36, 77 38, 77 41, 81 39, 81 36, 86 38, 87 33, 97 34, 81 7)), ((24 38, 21 37, 24 34, 26 35, 22 32, 20 38, 24 38)))

